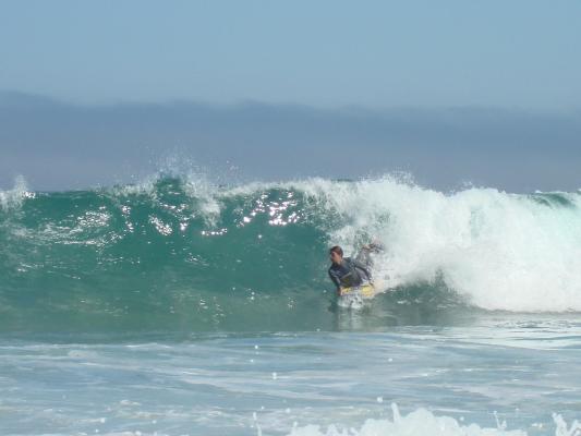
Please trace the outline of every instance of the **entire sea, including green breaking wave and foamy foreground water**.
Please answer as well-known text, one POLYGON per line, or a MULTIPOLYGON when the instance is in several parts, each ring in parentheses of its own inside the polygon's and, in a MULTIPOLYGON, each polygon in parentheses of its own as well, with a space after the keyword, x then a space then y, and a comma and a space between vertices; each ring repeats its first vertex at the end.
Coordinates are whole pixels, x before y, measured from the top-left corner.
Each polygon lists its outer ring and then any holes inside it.
POLYGON ((0 191, 0 435, 578 436, 580 315, 581 192, 0 191))

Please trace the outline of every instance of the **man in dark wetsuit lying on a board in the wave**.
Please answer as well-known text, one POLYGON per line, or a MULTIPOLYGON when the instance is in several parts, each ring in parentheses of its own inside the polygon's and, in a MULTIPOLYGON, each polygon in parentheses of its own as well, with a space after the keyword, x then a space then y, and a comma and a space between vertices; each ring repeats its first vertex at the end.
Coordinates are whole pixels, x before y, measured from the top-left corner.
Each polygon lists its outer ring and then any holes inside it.
POLYGON ((332 262, 329 267, 329 277, 337 287, 337 294, 341 294, 342 288, 352 288, 365 282, 372 282, 372 274, 370 271, 371 245, 373 244, 365 245, 354 259, 343 257, 343 250, 339 245, 335 245, 329 250, 329 257, 332 262), (365 253, 366 264, 361 262, 362 253, 365 253))

